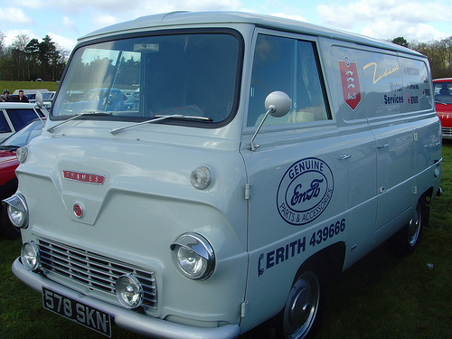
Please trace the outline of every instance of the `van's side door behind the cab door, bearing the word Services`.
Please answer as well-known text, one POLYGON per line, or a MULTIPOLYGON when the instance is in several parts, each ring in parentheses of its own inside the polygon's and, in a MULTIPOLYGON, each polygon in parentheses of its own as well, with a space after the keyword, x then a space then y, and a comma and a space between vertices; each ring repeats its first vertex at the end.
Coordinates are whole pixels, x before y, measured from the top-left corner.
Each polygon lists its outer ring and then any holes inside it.
POLYGON ((402 72, 390 52, 361 52, 367 118, 377 148, 378 213, 375 230, 412 204, 414 168, 412 126, 404 114, 402 72))

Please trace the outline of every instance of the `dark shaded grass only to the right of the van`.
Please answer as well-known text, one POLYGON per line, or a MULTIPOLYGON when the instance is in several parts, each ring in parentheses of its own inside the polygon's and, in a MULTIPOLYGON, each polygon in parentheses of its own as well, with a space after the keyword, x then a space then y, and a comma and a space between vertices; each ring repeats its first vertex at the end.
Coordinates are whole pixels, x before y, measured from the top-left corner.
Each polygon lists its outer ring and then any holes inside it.
POLYGON ((316 339, 452 338, 452 142, 418 249, 398 258, 381 246, 333 287, 316 339), (428 265, 432 264, 433 268, 428 265))

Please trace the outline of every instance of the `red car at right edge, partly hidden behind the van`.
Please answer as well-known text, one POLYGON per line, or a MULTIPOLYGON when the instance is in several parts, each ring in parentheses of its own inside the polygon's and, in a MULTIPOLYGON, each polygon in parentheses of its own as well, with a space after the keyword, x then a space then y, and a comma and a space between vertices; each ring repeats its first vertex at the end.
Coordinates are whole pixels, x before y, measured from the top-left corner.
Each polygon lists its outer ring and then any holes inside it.
POLYGON ((443 139, 452 139, 452 78, 435 79, 433 86, 443 139))

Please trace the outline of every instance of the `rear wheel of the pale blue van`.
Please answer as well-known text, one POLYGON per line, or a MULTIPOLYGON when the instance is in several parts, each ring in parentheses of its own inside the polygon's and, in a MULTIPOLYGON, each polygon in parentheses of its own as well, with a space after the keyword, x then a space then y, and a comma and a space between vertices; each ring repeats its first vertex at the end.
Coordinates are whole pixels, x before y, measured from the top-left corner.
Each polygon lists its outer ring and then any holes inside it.
POLYGON ((422 229, 427 222, 428 206, 420 199, 408 224, 394 235, 393 248, 396 254, 405 256, 416 249, 422 229))

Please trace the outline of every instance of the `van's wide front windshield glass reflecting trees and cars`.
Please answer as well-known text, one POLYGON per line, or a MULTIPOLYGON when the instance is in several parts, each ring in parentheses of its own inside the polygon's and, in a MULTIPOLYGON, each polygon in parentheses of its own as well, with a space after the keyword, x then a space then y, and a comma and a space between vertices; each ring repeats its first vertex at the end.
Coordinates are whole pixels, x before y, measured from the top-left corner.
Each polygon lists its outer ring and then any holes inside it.
POLYGON ((71 57, 52 117, 223 122, 237 107, 241 50, 234 33, 193 30, 82 46, 71 57))

